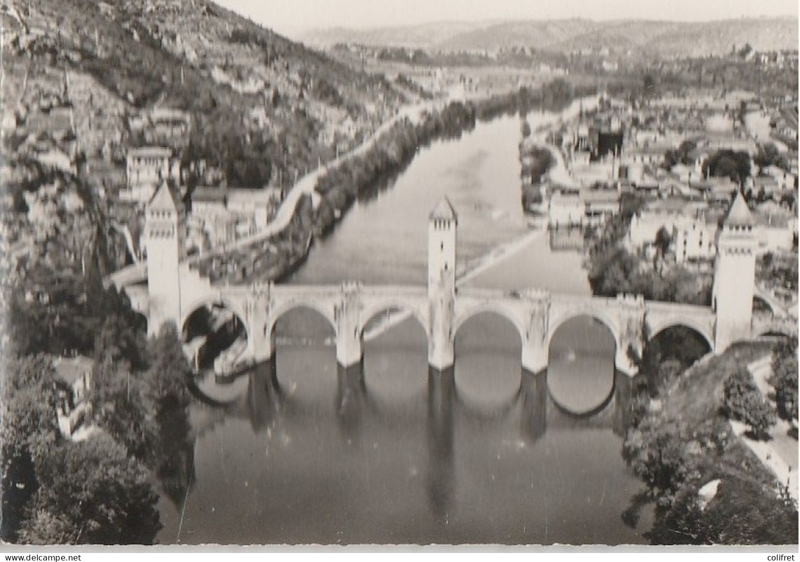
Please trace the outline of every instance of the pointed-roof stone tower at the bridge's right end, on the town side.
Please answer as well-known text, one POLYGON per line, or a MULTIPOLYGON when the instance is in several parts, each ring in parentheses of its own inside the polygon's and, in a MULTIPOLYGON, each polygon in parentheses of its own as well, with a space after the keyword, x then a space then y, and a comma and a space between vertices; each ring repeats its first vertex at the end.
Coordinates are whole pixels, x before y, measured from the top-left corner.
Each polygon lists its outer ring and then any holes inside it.
POLYGON ((731 343, 750 338, 758 245, 754 225, 742 192, 737 191, 717 235, 711 306, 717 313, 714 348, 718 353, 731 343))

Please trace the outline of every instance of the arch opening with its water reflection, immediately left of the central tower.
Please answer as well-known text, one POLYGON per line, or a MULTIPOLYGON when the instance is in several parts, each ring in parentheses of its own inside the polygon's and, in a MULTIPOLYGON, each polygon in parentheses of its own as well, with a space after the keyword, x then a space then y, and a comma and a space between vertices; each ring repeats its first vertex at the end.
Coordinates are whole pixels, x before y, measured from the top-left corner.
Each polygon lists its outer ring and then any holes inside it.
POLYGON ((429 367, 422 318, 392 304, 374 307, 363 318, 362 372, 370 397, 390 406, 424 395, 429 367))

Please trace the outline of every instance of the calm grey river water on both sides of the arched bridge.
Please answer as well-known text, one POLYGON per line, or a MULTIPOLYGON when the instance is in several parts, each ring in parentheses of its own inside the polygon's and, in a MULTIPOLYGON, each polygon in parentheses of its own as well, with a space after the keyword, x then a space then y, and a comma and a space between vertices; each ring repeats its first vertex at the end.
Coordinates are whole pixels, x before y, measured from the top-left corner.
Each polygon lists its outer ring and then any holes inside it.
MULTIPOLYGON (((427 216, 447 195, 462 286, 589 294, 581 255, 552 251, 522 214, 519 140, 519 119, 503 117, 421 149, 286 282, 425 283, 427 216)), ((645 542, 621 519, 638 492, 620 455, 625 385, 614 339, 593 320, 564 324, 537 375, 491 313, 459 329, 445 374, 429 373, 413 319, 367 341, 348 371, 317 313, 290 312, 276 329, 274 363, 213 389, 226 407, 191 407, 190 484, 162 500, 160 542, 645 542)))

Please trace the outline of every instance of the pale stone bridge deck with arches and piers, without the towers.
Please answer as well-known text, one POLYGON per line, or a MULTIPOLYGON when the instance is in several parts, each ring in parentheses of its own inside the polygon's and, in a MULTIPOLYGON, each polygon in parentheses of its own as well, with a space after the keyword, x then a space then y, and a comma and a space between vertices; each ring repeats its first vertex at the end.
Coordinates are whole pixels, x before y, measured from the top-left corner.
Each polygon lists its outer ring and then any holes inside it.
MULTIPOLYGON (((440 295, 441 296, 441 295, 440 295)), ((399 310, 425 330, 431 367, 454 365, 454 339, 468 319, 494 312, 517 328, 522 343, 522 367, 539 372, 547 367, 550 341, 569 319, 588 315, 609 328, 616 344, 615 365, 635 375, 629 349, 641 351, 642 342, 673 326, 691 327, 714 350, 716 317, 710 307, 645 301, 638 296, 617 298, 561 295, 538 289, 498 291, 459 288, 454 295, 434 298, 427 287, 342 285, 211 286, 182 299, 179 327, 198 308, 217 304, 228 308, 246 328, 248 343, 240 362, 260 363, 275 352, 274 327, 287 312, 307 308, 330 323, 336 339, 336 357, 343 367, 361 362, 364 330, 385 311, 399 310)))

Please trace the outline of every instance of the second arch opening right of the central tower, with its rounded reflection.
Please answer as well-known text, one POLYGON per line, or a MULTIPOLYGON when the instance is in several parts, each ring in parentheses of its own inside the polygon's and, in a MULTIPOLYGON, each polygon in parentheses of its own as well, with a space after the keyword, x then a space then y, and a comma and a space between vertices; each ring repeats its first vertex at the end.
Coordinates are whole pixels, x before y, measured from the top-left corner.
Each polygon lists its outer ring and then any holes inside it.
POLYGON ((607 321, 590 313, 564 319, 548 341, 547 391, 559 411, 590 417, 614 397, 619 343, 607 321))

